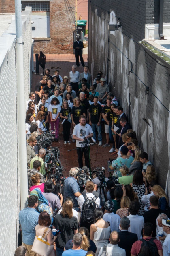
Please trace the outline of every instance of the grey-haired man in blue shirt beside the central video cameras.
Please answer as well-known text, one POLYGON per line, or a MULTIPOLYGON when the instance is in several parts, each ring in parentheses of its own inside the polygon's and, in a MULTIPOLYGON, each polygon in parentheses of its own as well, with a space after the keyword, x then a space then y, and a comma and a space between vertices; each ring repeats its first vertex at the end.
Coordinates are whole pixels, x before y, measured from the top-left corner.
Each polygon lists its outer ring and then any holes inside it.
POLYGON ((79 207, 76 197, 79 197, 81 195, 80 187, 78 186, 78 183, 76 181, 76 176, 78 172, 78 168, 71 168, 69 171, 69 177, 64 181, 64 201, 66 197, 72 197, 74 200, 74 207, 79 207))

